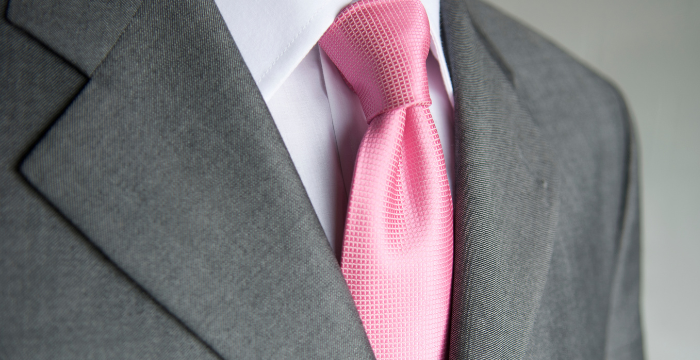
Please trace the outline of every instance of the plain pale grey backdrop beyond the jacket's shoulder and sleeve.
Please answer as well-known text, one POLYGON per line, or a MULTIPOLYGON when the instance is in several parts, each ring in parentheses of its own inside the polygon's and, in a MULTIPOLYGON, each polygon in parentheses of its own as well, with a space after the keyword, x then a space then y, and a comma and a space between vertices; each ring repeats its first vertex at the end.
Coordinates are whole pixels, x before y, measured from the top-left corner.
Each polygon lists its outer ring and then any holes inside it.
POLYGON ((488 0, 622 90, 641 141, 647 358, 700 359, 700 0, 488 0))

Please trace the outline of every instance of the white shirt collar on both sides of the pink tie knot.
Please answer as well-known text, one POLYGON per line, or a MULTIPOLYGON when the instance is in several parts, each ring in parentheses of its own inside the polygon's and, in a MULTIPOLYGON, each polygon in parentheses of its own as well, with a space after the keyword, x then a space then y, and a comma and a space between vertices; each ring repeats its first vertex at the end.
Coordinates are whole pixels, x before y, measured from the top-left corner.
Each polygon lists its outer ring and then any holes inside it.
MULTIPOLYGON (((316 45, 348 0, 215 0, 263 98, 268 101, 316 45)), ((440 40, 440 1, 421 0, 435 55, 452 101, 452 82, 440 40)))

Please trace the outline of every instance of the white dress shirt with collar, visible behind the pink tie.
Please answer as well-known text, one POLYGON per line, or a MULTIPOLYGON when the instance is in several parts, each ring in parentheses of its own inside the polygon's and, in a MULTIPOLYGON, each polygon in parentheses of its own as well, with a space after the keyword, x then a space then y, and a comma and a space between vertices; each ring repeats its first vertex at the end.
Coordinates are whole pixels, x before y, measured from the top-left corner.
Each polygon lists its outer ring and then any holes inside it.
MULTIPOLYGON (((337 256, 367 120, 359 99, 316 43, 351 1, 215 1, 337 256)), ((430 22, 430 111, 454 193, 452 83, 440 41, 440 5, 439 0, 422 3, 430 22)))

